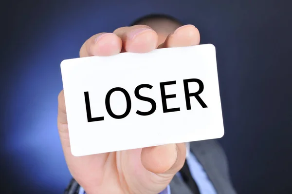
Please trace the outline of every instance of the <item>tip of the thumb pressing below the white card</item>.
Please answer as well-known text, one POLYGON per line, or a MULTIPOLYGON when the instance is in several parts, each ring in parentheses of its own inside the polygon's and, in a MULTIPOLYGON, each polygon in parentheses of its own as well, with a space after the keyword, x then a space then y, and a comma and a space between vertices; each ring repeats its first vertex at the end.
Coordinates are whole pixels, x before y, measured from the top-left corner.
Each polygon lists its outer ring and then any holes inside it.
POLYGON ((143 148, 141 162, 152 173, 174 175, 183 167, 185 155, 185 143, 166 144, 143 148))

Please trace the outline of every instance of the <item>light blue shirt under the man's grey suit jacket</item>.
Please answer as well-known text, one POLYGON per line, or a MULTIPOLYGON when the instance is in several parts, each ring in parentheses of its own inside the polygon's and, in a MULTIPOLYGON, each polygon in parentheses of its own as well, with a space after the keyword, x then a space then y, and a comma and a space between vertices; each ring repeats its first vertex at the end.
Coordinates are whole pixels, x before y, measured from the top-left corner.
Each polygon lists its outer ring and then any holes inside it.
MULTIPOLYGON (((216 190, 209 180, 205 170, 197 160, 196 156, 190 152, 189 143, 186 143, 186 162, 189 166, 190 172, 196 181, 201 194, 217 194, 216 190)), ((181 177, 180 173, 177 174, 181 177)), ((79 194, 86 194, 83 188, 80 188, 79 194)), ((160 194, 171 194, 169 185, 160 194)))

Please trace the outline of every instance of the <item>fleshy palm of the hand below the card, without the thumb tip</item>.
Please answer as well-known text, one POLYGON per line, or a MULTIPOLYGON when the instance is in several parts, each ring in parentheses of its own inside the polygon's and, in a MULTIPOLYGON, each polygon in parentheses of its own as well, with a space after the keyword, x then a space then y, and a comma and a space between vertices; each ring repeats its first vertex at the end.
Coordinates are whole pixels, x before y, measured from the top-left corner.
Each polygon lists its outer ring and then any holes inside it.
POLYGON ((72 156, 74 158, 66 160, 71 174, 80 185, 88 191, 94 185, 92 193, 96 190, 96 193, 102 194, 157 194, 170 182, 172 175, 159 175, 146 170, 141 162, 141 151, 135 149, 77 158, 72 156), (111 187, 104 187, 104 183, 110 183, 111 187))

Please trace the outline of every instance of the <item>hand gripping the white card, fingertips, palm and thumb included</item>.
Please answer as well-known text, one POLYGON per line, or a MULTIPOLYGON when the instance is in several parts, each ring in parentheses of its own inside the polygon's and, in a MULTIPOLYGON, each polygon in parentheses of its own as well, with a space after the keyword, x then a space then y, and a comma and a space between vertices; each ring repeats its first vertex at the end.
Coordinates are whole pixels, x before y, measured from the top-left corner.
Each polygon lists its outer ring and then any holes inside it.
MULTIPOLYGON (((92 36, 82 45, 80 57, 146 53, 157 48, 197 45, 200 34, 193 25, 185 25, 163 41, 161 43, 158 34, 146 25, 122 27, 113 33, 92 36)), ((88 194, 158 194, 183 167, 184 143, 73 156, 63 91, 58 102, 58 129, 65 159, 71 174, 88 194)))

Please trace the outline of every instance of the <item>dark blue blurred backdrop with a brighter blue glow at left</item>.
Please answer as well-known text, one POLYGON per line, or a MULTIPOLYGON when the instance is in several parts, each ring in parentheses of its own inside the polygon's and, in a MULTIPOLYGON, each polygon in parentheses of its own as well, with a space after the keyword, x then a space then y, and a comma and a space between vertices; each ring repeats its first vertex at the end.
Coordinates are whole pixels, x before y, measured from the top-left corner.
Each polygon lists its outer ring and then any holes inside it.
POLYGON ((150 13, 217 47, 225 136, 239 194, 292 193, 289 0, 1 2, 0 193, 61 194, 70 181, 57 133, 60 62, 82 43, 150 13))

